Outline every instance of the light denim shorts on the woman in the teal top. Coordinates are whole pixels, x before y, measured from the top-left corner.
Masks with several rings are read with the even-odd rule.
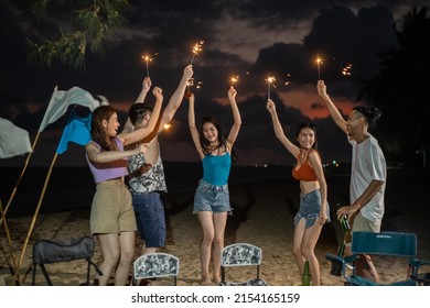
[[[228,185],[216,186],[201,179],[194,195],[193,213],[200,211],[232,213]]]

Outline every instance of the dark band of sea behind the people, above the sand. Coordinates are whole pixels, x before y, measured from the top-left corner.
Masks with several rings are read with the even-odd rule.
[[[233,165],[229,185],[234,186],[276,179],[284,180],[286,185],[295,185],[295,180],[291,178],[291,168],[292,166],[288,165]],[[168,195],[194,190],[202,176],[202,165],[200,162],[165,162],[164,169],[169,189]],[[1,168],[0,198],[3,208],[6,207],[14,186],[17,185],[21,170],[22,167]],[[342,199],[345,202],[347,201],[350,170],[351,166],[348,165],[326,168],[325,175],[329,184],[329,198],[334,195],[333,193],[335,193],[335,195],[342,194]],[[15,197],[8,210],[7,217],[22,217],[34,212],[34,209],[41,199],[41,193],[47,172],[49,167],[30,166],[26,169],[17,189]],[[423,170],[422,168],[388,168],[388,199],[394,187],[391,185],[393,180],[401,183],[405,182],[408,183],[408,185],[411,185],[413,180],[418,180],[430,186],[429,174],[429,170]],[[332,186],[335,182],[340,182],[342,187],[335,188],[338,187],[338,185]],[[402,188],[405,187],[400,185],[400,189]],[[88,167],[54,167],[45,195],[43,196],[41,212],[56,212],[61,210],[89,208],[94,191],[95,184]],[[404,191],[406,194],[406,188]]]

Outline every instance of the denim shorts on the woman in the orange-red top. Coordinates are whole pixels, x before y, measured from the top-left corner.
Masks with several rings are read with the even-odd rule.
[[[300,209],[294,217],[294,226],[297,226],[300,219],[307,220],[305,228],[310,228],[315,222],[315,219],[320,217],[321,210],[321,191],[320,189],[313,190],[308,194],[300,194]],[[330,206],[327,202],[326,212],[330,221]]]

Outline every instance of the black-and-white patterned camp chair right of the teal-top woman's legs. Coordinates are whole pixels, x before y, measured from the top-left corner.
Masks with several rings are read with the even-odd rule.
[[[261,249],[248,243],[236,243],[228,245],[222,251],[222,282],[221,286],[267,286],[267,283],[260,279]],[[241,283],[226,282],[226,267],[234,266],[256,266],[256,278]]]

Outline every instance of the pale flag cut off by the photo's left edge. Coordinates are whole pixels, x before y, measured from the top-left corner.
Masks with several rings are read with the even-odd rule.
[[[0,118],[0,158],[13,157],[33,152],[29,132]]]

